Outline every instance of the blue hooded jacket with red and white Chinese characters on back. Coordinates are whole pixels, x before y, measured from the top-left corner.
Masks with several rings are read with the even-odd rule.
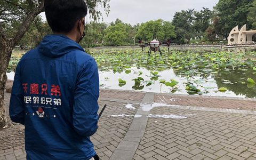
[[[99,74],[75,41],[47,35],[21,58],[10,117],[25,125],[27,159],[90,159],[97,131]]]

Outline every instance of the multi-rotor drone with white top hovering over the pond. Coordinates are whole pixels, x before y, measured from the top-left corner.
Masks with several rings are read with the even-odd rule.
[[[142,51],[144,51],[144,47],[149,46],[149,50],[148,50],[148,57],[151,54],[151,51],[156,52],[158,51],[160,53],[160,55],[162,55],[162,51],[160,50],[160,45],[164,45],[167,46],[168,52],[170,49],[170,44],[172,43],[171,39],[167,39],[165,41],[159,42],[156,39],[154,39],[153,41],[150,41],[149,43],[146,42],[142,42],[141,39],[139,39],[140,47],[142,48]]]

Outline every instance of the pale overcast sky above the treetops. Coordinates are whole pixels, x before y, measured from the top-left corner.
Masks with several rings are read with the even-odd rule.
[[[125,23],[136,25],[137,23],[147,22],[149,20],[163,19],[172,21],[175,12],[181,10],[195,9],[202,10],[207,7],[210,10],[219,0],[110,0],[110,13],[107,15],[102,11],[103,22],[110,23],[117,18]],[[41,13],[45,20],[44,13]],[[89,15],[86,16],[87,22],[90,22]]]

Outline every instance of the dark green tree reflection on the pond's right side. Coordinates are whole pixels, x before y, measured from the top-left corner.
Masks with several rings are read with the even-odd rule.
[[[181,77],[187,77],[185,71],[174,69],[175,75]],[[247,78],[256,80],[256,70],[253,70],[252,67],[229,68],[219,71],[213,71],[211,69],[195,69],[190,71],[190,76],[192,76],[192,79],[199,77],[201,80],[199,82],[195,82],[200,84],[206,83],[209,81],[209,77],[211,77],[214,79],[215,84],[217,84],[218,89],[220,87],[226,87],[228,91],[234,92],[235,95],[244,95],[247,98],[256,98],[255,84],[247,82]]]

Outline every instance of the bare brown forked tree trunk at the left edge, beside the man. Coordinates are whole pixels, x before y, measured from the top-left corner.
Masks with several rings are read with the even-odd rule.
[[[0,129],[7,127],[6,110],[4,106],[4,88],[7,81],[6,71],[11,59],[12,50],[26,33],[34,18],[43,11],[44,0],[41,1],[36,9],[27,15],[25,20],[22,22],[17,34],[11,40],[7,38],[3,29],[0,27]]]

